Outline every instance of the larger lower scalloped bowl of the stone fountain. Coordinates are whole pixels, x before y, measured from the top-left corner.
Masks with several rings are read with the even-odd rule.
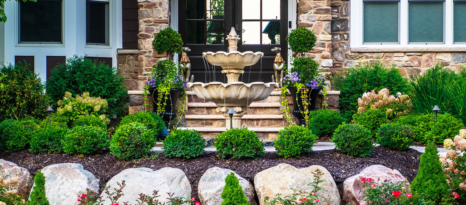
[[[219,107],[247,107],[251,102],[265,100],[274,88],[276,82],[188,82],[188,88],[206,101],[215,102]]]

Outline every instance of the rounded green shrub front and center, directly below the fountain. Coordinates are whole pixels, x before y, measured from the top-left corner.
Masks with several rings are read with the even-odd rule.
[[[233,128],[217,135],[212,144],[222,158],[260,158],[265,154],[264,145],[252,130]]]

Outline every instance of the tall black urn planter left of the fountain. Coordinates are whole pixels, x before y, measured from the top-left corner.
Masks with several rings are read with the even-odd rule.
[[[149,88],[148,91],[152,96],[152,102],[153,102],[152,112],[158,113],[157,112],[158,91],[156,88]],[[182,92],[183,92],[182,89],[170,89],[168,99],[165,100],[164,98],[162,98],[161,103],[162,104],[164,102],[166,103],[165,110],[161,113],[158,113],[158,115],[162,117],[162,120],[164,121],[167,129],[170,129],[168,124],[173,119],[173,117],[176,117],[176,115],[178,114],[178,110],[176,109],[176,102]],[[161,135],[163,134],[161,133]]]

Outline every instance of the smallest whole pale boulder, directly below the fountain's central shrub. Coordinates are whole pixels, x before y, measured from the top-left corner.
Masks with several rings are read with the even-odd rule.
[[[220,205],[223,202],[221,194],[225,187],[225,178],[231,172],[234,171],[219,167],[212,167],[202,175],[199,179],[198,185],[199,201],[202,205]],[[251,205],[257,205],[254,200],[254,186],[238,174],[235,173],[234,175],[238,178],[238,181],[240,181],[240,185],[243,187],[243,192],[244,195],[246,195],[247,201],[249,201]]]

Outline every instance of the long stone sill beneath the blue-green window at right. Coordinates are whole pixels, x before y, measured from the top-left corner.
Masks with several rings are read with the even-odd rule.
[[[466,52],[461,48],[351,48],[351,52]]]

